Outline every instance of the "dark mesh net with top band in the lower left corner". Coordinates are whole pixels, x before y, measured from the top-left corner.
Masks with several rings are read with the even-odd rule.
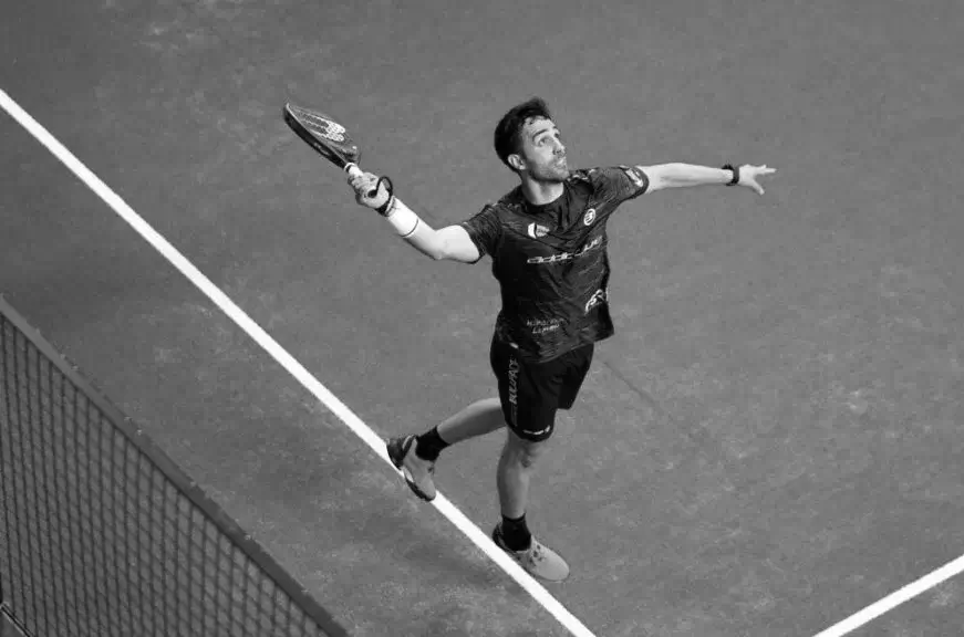
[[[0,614],[28,637],[346,635],[2,297]]]

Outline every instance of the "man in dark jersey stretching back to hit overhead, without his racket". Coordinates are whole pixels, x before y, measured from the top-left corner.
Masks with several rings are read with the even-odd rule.
[[[387,451],[408,487],[432,500],[443,449],[507,427],[497,471],[501,521],[493,540],[530,574],[558,582],[569,566],[532,536],[526,505],[557,410],[572,407],[594,343],[613,334],[607,221],[624,201],[665,188],[718,184],[761,195],[757,178],[774,169],[663,164],[570,170],[562,136],[539,98],[506,113],[495,130],[495,148],[520,185],[463,223],[440,230],[375,175],[349,179],[359,203],[379,210],[422,253],[465,263],[488,254],[501,290],[490,348],[498,398],[474,403],[422,435],[392,438]]]

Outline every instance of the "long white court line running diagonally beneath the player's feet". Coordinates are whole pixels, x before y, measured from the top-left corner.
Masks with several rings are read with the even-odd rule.
[[[301,363],[294,359],[281,345],[255,323],[243,310],[241,310],[227,294],[211,283],[194,264],[190,263],[178,250],[163,236],[152,228],[137,212],[134,211],[121,197],[94,175],[80,159],[66,147],[54,138],[41,126],[27,111],[20,107],[3,90],[0,90],[0,107],[15,119],[28,133],[33,135],[54,157],[66,166],[77,179],[94,191],[114,212],[131,224],[148,243],[177,268],[187,279],[194,283],[215,305],[228,315],[231,321],[243,330],[258,345],[270,354],[291,376],[311,391],[328,409],[334,414],[349,429],[372,448],[393,471],[397,473],[395,466],[388,459],[385,450],[385,441],[365,425],[351,409],[322,385]],[[432,502],[439,513],[445,515],[456,529],[462,531],[471,542],[479,547],[493,562],[498,564],[519,586],[525,588],[532,598],[548,610],[569,633],[576,637],[594,637],[574,615],[559,603],[541,584],[512,561],[505,552],[493,543],[491,539],[483,533],[465,514],[452,504],[442,493],[438,493]]]

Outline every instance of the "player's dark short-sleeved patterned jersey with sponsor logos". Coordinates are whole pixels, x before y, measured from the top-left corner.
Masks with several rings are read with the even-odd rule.
[[[493,259],[502,300],[497,340],[543,362],[612,336],[605,224],[647,187],[635,167],[573,170],[551,203],[529,203],[519,186],[462,223]]]

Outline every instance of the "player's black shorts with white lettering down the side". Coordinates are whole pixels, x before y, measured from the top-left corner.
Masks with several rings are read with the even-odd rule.
[[[533,442],[549,438],[556,410],[569,409],[576,401],[593,351],[590,343],[546,363],[527,363],[519,358],[518,349],[493,338],[489,362],[509,429]]]

